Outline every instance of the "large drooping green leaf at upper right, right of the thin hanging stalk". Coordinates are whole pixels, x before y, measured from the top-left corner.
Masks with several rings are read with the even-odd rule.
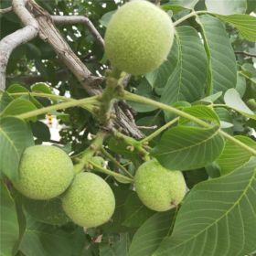
[[[208,52],[208,94],[225,92],[235,87],[237,80],[235,54],[226,29],[213,16],[200,16],[197,22],[202,28]]]

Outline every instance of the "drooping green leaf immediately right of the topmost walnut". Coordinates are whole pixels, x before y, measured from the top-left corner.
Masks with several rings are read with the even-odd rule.
[[[207,55],[197,30],[193,27],[177,27],[178,64],[166,82],[161,101],[197,101],[202,98],[207,79]]]

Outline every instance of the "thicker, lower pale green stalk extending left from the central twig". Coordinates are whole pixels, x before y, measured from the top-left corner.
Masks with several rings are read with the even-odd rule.
[[[96,103],[98,101],[98,98],[99,98],[99,96],[93,96],[93,97],[81,99],[81,100],[61,102],[59,104],[51,105],[51,106],[41,108],[41,109],[38,109],[35,111],[21,113],[21,114],[16,115],[16,117],[21,118],[21,119],[27,119],[27,118],[37,116],[37,115],[40,115],[43,113],[67,109],[70,107],[78,107],[78,106],[83,106],[83,108],[91,110],[91,107],[93,106],[94,103]],[[86,106],[86,104],[89,104],[90,106],[89,105]]]

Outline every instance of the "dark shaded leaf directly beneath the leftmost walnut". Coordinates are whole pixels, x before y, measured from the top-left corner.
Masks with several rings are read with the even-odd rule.
[[[62,209],[59,198],[46,201],[23,197],[22,201],[29,215],[39,222],[50,225],[64,225],[70,221]]]

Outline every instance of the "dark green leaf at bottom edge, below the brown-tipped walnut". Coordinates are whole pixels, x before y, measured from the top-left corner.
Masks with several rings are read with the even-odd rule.
[[[129,256],[151,256],[160,242],[168,235],[175,211],[155,213],[136,231],[129,248]]]

